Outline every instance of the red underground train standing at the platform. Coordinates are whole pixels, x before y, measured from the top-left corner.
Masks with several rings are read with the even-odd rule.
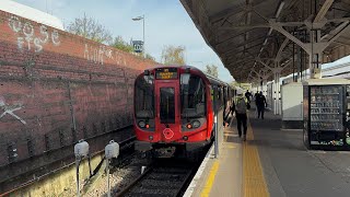
[[[194,158],[213,141],[214,117],[225,124],[235,90],[196,67],[163,66],[139,74],[133,93],[135,149]]]

